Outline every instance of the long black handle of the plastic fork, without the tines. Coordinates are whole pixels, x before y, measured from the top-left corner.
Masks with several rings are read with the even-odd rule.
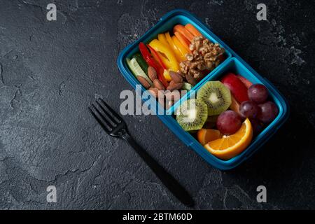
[[[125,139],[132,148],[138,153],[138,155],[146,162],[146,165],[152,169],[152,171],[155,173],[156,176],[164,183],[165,186],[169,189],[170,192],[173,193],[173,195],[181,201],[183,204],[185,204],[188,207],[193,207],[194,201],[193,198],[189,195],[187,190],[181,186],[181,184],[174,179],[174,177],[169,174],[161,165],[156,162],[151,155],[149,155],[144,148],[139,146],[137,144],[137,141],[134,141],[134,139],[125,132],[122,136],[123,139]]]

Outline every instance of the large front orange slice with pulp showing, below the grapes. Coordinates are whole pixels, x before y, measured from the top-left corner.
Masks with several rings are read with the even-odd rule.
[[[221,139],[210,141],[204,145],[204,148],[216,155],[217,158],[230,160],[230,158],[239,155],[244,149],[251,144],[253,138],[253,129],[251,122],[246,118],[241,128],[231,135],[223,135]]]

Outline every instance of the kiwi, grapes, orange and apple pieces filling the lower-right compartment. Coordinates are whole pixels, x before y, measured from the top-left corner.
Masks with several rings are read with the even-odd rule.
[[[229,160],[244,151],[278,115],[276,104],[268,98],[264,85],[226,73],[220,81],[204,83],[196,99],[183,102],[176,120],[210,153]]]

